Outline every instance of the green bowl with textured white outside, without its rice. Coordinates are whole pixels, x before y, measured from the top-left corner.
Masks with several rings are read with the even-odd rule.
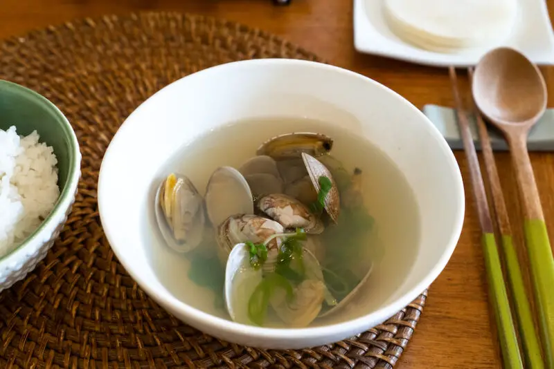
[[[17,134],[37,131],[57,158],[60,198],[44,222],[12,252],[0,258],[0,291],[11,287],[35,268],[64,227],[80,178],[81,153],[71,124],[54,104],[24,86],[0,79],[0,129]]]

